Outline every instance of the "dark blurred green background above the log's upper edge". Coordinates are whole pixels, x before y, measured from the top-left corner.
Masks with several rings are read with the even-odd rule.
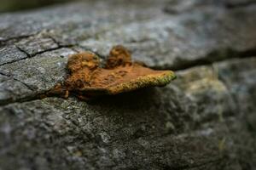
[[[74,0],[0,0],[0,13],[40,8],[55,3],[67,3]]]

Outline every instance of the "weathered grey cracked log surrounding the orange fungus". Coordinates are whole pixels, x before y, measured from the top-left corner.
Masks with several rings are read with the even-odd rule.
[[[0,15],[0,169],[255,169],[255,11],[84,0]],[[113,67],[117,44],[177,79],[93,103],[38,98],[65,81],[68,56]]]

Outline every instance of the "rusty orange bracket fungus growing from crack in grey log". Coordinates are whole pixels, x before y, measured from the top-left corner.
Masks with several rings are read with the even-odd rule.
[[[114,46],[106,65],[100,66],[96,54],[73,54],[67,62],[69,75],[58,83],[50,94],[67,98],[70,93],[79,99],[91,99],[104,94],[120,94],[138,88],[165,86],[175,75],[172,71],[154,71],[145,65],[132,62],[130,52],[123,46]]]

